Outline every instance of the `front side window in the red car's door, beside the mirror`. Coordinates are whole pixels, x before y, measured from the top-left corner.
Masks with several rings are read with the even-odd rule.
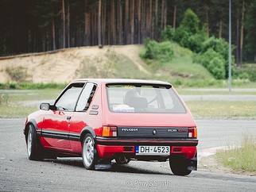
[[[61,95],[55,106],[57,110],[68,110],[74,111],[76,102],[83,89],[84,83],[72,84],[65,90],[64,94]]]

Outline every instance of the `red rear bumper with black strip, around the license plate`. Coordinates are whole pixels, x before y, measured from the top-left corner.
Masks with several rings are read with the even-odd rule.
[[[198,140],[117,140],[96,137],[97,151],[100,158],[114,158],[115,155],[124,154],[136,158],[135,146],[154,145],[170,146],[170,156],[184,155],[186,159],[196,156]]]

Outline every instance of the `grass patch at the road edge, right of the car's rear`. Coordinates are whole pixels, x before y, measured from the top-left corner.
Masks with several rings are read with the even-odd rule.
[[[217,152],[216,156],[223,165],[235,171],[256,171],[256,136],[243,134],[240,147],[230,147]]]

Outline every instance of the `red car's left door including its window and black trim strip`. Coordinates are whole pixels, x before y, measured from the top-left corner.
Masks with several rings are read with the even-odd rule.
[[[57,98],[54,109],[45,115],[42,136],[47,144],[46,148],[71,151],[69,126],[83,85],[84,83],[74,83],[68,86]]]

